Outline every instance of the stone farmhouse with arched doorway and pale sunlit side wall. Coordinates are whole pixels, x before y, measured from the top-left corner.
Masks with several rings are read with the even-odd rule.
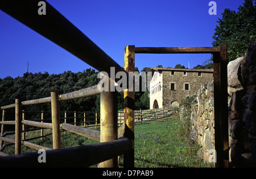
[[[150,109],[179,107],[201,85],[213,80],[213,69],[151,68]]]

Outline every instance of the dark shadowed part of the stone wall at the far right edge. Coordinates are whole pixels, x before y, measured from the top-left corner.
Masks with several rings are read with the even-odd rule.
[[[238,67],[238,86],[229,105],[232,166],[256,167],[256,39]]]

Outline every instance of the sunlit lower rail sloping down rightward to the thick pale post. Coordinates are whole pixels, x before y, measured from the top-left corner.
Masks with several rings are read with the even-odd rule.
[[[89,128],[84,128],[84,127],[80,127],[80,126],[74,126],[74,125],[67,124],[67,123],[62,123],[60,125],[60,128],[63,130],[70,131],[75,134],[81,135],[81,136],[85,136],[86,138],[89,138],[92,140],[100,141],[100,131],[91,130]]]

